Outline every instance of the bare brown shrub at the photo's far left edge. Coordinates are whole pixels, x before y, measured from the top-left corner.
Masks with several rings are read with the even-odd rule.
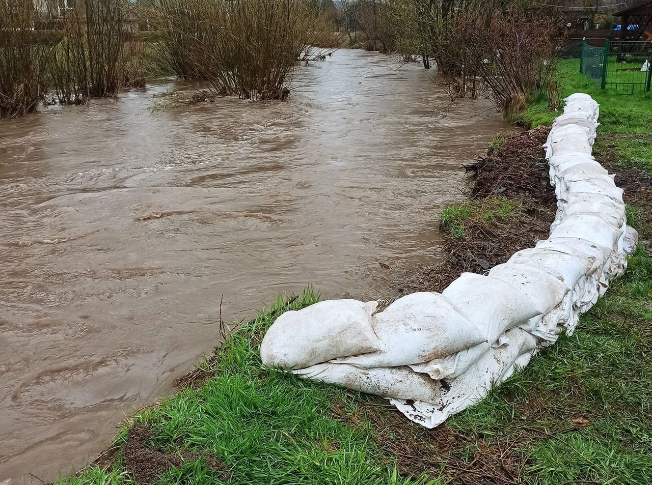
[[[0,117],[37,109],[48,89],[48,63],[55,40],[33,31],[32,0],[0,2]]]

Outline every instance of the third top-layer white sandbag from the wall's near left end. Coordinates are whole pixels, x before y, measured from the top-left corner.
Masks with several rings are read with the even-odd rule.
[[[442,294],[482,329],[490,344],[508,328],[544,312],[511,284],[476,273],[462,273]]]

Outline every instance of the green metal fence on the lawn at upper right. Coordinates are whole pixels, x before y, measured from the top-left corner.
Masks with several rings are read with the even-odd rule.
[[[600,89],[616,94],[649,91],[652,81],[652,42],[610,42],[606,39],[604,47],[595,47],[582,40],[580,72],[593,79]]]

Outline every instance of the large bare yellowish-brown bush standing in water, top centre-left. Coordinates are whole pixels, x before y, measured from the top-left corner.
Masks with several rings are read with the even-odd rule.
[[[151,18],[178,76],[245,99],[286,98],[297,59],[324,37],[308,0],[160,0]]]

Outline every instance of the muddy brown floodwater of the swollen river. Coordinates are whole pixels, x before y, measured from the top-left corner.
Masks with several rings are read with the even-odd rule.
[[[149,112],[170,81],[0,122],[0,481],[95,458],[215,346],[222,295],[231,321],[308,283],[378,298],[436,257],[460,165],[507,125],[432,116],[430,72],[376,53],[297,79],[285,103]]]

